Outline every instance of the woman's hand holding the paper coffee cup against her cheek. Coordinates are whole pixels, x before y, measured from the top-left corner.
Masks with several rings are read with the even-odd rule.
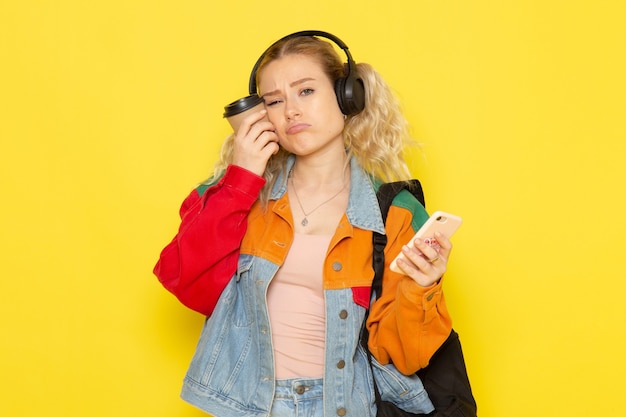
[[[278,152],[278,136],[274,125],[261,110],[247,116],[235,135],[233,164],[263,176],[267,161]]]

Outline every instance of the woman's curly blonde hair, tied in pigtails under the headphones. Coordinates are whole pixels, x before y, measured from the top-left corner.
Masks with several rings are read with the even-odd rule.
[[[285,55],[297,54],[315,57],[333,84],[346,74],[347,67],[329,42],[313,36],[302,36],[272,46],[264,54],[257,77],[269,62]],[[409,146],[415,145],[415,142],[409,135],[408,123],[402,114],[399,100],[371,65],[358,63],[356,73],[365,87],[365,109],[346,118],[343,130],[346,153],[349,157],[354,155],[361,167],[376,180],[408,180],[411,173],[405,161],[405,151]],[[234,139],[234,134],[225,139],[212,178],[220,178],[232,162]],[[289,152],[281,148],[269,159],[263,174],[267,183],[259,197],[262,202],[267,202],[279,175],[286,174],[286,160],[289,155]]]

